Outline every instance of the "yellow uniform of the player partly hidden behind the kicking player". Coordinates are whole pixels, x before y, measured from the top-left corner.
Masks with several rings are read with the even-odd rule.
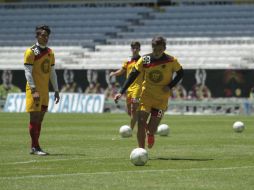
[[[126,78],[128,78],[129,74],[131,73],[132,69],[134,68],[139,58],[140,56],[132,57],[130,60],[124,62],[122,68],[126,70]],[[126,93],[127,104],[139,102],[142,82],[143,82],[143,75],[140,74],[135,79],[135,81],[129,86]]]

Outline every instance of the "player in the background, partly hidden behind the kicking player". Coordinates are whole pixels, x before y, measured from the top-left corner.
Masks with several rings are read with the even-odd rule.
[[[133,41],[131,43],[131,52],[132,56],[129,60],[125,61],[122,65],[122,68],[111,72],[109,74],[110,77],[112,76],[120,76],[126,73],[126,78],[131,73],[133,67],[135,66],[136,62],[139,60],[140,55],[140,42]],[[137,122],[137,107],[139,105],[139,98],[140,98],[140,92],[141,92],[141,85],[143,82],[142,75],[139,75],[135,81],[129,86],[126,94],[126,105],[127,105],[127,111],[128,115],[131,117],[130,127],[131,129],[134,129],[135,124]]]

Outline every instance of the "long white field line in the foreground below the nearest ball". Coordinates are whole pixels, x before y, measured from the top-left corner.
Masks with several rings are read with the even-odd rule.
[[[219,171],[219,170],[237,170],[237,169],[251,169],[254,166],[235,166],[225,168],[189,168],[189,169],[166,169],[166,170],[127,170],[127,171],[109,171],[109,172],[84,172],[84,173],[60,173],[60,174],[46,174],[46,175],[28,175],[28,176],[14,176],[14,177],[0,177],[0,180],[18,180],[31,178],[53,178],[53,177],[70,177],[70,176],[91,176],[91,175],[110,175],[110,174],[127,174],[127,173],[164,173],[164,172],[186,172],[186,171]]]

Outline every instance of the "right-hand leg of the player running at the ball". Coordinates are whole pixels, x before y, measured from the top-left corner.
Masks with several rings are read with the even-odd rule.
[[[148,148],[152,148],[154,145],[154,134],[157,131],[157,127],[160,124],[160,121],[163,117],[163,111],[162,110],[158,110],[158,109],[154,109],[152,108],[151,110],[151,117],[148,121],[147,124],[147,144],[148,144]]]

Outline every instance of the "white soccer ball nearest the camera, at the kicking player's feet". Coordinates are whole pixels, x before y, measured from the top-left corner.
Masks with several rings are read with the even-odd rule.
[[[135,166],[144,166],[148,161],[148,153],[146,149],[135,148],[131,151],[130,160]]]

